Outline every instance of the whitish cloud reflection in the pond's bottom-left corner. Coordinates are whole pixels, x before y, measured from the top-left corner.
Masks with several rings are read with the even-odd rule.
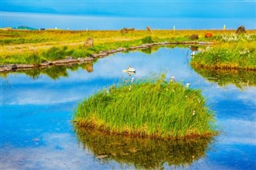
[[[1,148],[2,169],[94,169],[120,168],[118,164],[98,164],[94,155],[78,147],[70,133],[44,133],[39,147],[8,145]],[[38,143],[35,140],[34,143]]]

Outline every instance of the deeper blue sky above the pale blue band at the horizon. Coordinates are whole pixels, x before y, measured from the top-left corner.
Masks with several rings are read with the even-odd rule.
[[[256,18],[255,1],[1,0],[8,12],[138,18]]]

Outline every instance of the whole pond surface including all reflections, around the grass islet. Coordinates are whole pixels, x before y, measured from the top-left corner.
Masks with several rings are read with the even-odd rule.
[[[2,169],[255,169],[256,74],[190,67],[189,48],[116,53],[94,63],[1,75]],[[122,73],[131,65],[136,73]],[[166,73],[202,89],[221,130],[213,139],[149,140],[76,129],[78,102],[134,77]]]

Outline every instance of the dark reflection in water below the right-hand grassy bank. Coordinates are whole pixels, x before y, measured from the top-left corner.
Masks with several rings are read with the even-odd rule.
[[[219,86],[235,85],[239,89],[256,85],[256,72],[247,70],[196,69],[197,73],[207,81],[218,83]]]

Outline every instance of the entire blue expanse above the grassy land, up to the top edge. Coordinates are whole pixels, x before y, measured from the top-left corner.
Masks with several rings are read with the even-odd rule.
[[[256,29],[255,0],[1,0],[1,11],[0,27]]]

